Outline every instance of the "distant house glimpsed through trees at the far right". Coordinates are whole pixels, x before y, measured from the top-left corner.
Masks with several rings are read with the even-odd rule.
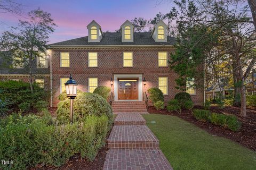
[[[206,99],[216,99],[220,97],[220,91],[222,92],[223,97],[225,97],[231,95],[233,90],[233,88],[225,86],[224,84],[219,86],[219,84],[216,83],[214,86],[211,86],[205,90],[205,96]]]

